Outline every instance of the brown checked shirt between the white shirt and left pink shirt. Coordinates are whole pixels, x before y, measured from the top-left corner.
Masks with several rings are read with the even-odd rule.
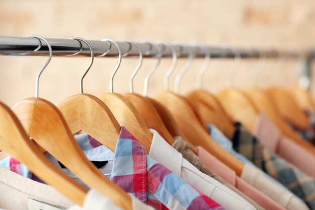
[[[173,144],[173,148],[175,148],[178,152],[180,152],[183,155],[183,158],[185,158],[187,161],[189,161],[192,165],[194,165],[199,171],[201,171],[204,174],[207,174],[208,176],[214,178],[215,180],[219,181],[220,183],[227,186],[229,189],[234,191],[235,193],[239,194],[241,197],[243,197],[245,200],[247,200],[249,203],[251,203],[255,209],[263,210],[264,208],[258,205],[254,200],[246,196],[243,192],[232,186],[230,183],[222,179],[219,175],[211,171],[208,167],[206,167],[204,164],[201,163],[200,159],[197,155],[194,154],[192,150],[189,149],[188,144],[184,141],[184,139],[181,136],[175,137],[175,142]]]

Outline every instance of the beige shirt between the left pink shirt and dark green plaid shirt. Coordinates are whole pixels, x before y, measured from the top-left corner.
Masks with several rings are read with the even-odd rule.
[[[303,202],[295,198],[292,193],[274,184],[259,170],[248,164],[245,164],[241,178],[288,210],[308,209],[308,207]]]

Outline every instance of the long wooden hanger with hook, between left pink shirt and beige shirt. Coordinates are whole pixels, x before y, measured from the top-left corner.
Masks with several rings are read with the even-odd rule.
[[[175,90],[177,92],[179,91],[181,78],[187,72],[193,60],[191,50],[183,44],[178,45],[186,49],[188,60],[184,68],[176,77]],[[167,74],[166,81],[169,80],[171,73]],[[156,94],[153,98],[168,108],[174,116],[181,132],[184,133],[185,137],[187,137],[192,144],[195,146],[202,146],[229,168],[233,169],[238,176],[241,176],[244,164],[215,143],[184,97],[169,91],[164,91]]]

